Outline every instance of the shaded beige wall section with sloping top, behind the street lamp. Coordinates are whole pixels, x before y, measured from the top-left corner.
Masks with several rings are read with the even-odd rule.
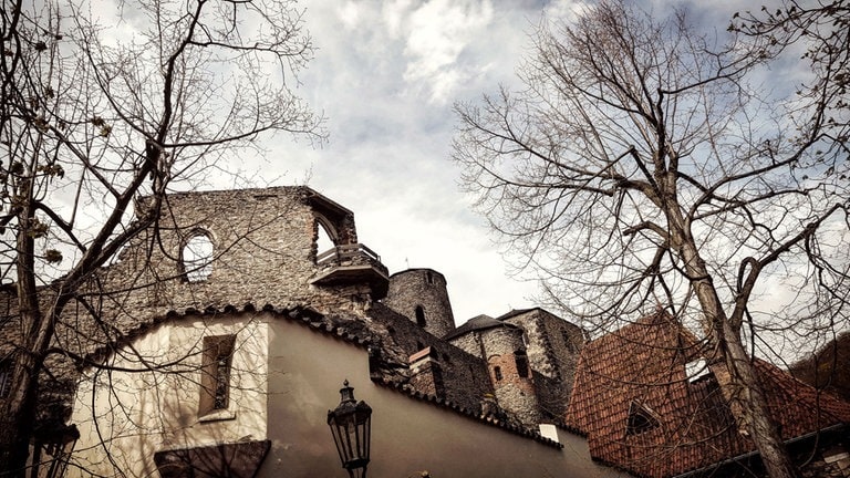
[[[260,477],[344,477],[326,426],[344,380],[373,408],[370,476],[620,476],[590,459],[581,437],[560,432],[552,448],[456,412],[415,401],[369,380],[365,350],[291,322],[270,326],[269,438]]]

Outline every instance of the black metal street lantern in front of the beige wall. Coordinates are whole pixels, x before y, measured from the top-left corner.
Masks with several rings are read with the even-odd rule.
[[[354,388],[349,386],[349,381],[343,382],[340,396],[340,405],[328,411],[328,426],[349,477],[365,478],[372,438],[372,407],[354,399]]]

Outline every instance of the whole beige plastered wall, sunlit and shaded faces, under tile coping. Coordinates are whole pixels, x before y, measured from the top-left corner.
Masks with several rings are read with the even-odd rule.
[[[199,422],[203,336],[234,331],[235,416]],[[86,373],[72,418],[82,434],[72,476],[85,475],[75,466],[114,475],[108,453],[128,476],[155,477],[156,451],[249,437],[272,443],[259,477],[342,478],[326,414],[339,404],[346,378],[356,398],[374,409],[371,477],[404,478],[423,470],[437,478],[618,476],[590,460],[580,437],[560,432],[564,448],[553,448],[375,385],[365,349],[289,319],[258,313],[182,320],[153,330],[133,347],[151,363],[178,360],[172,371],[179,366],[180,373]],[[128,350],[111,363],[138,367]]]

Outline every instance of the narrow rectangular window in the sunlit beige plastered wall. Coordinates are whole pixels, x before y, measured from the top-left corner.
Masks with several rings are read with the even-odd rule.
[[[227,409],[230,405],[230,365],[235,343],[236,335],[204,337],[199,415]]]

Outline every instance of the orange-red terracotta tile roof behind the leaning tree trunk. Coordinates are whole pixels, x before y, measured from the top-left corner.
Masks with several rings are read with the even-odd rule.
[[[587,436],[594,459],[638,476],[672,477],[753,451],[714,376],[688,381],[685,364],[698,357],[694,337],[661,314],[588,343],[567,426]],[[850,404],[755,364],[785,439],[850,423]]]

